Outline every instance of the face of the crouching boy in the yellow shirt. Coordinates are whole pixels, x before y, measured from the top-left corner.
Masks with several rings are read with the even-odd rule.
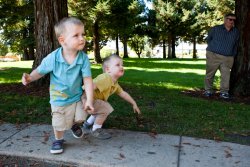
[[[124,74],[123,61],[119,58],[112,58],[106,67],[106,72],[110,75],[119,78]]]

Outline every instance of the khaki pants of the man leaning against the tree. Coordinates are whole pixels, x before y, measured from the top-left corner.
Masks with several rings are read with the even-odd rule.
[[[231,68],[234,63],[233,56],[223,56],[210,51],[206,52],[205,90],[213,92],[213,82],[216,71],[221,74],[220,92],[228,93]]]

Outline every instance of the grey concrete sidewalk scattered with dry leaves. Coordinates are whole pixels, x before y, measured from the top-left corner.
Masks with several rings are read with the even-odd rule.
[[[64,153],[49,153],[51,125],[0,125],[0,158],[14,156],[88,167],[250,167],[250,146],[212,140],[108,130],[109,140],[65,134]],[[0,166],[7,166],[0,159]],[[45,165],[46,166],[46,165]]]

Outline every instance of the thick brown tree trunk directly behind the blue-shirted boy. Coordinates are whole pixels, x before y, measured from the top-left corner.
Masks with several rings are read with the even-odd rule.
[[[58,48],[54,25],[63,17],[68,16],[67,0],[34,0],[36,58],[35,69],[44,57]],[[43,77],[36,82],[38,85],[48,84],[49,78]]]

